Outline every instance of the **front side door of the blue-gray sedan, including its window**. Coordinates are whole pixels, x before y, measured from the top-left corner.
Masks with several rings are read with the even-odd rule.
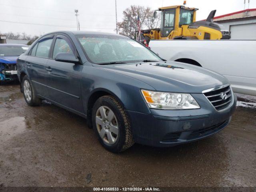
[[[49,99],[78,112],[84,112],[81,100],[81,64],[55,61],[58,53],[73,53],[76,48],[68,36],[58,34],[54,40],[51,58],[47,63]]]

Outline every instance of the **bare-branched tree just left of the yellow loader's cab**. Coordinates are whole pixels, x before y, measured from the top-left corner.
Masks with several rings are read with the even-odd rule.
[[[123,16],[123,21],[118,22],[118,31],[120,34],[132,38],[135,38],[138,16],[140,18],[141,29],[155,26],[156,23],[156,20],[153,18],[153,11],[149,7],[132,5],[123,11]]]

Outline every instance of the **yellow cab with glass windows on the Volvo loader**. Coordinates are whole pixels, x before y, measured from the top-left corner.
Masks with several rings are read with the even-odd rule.
[[[169,6],[158,9],[162,12],[161,15],[161,32],[162,39],[170,39],[173,36],[182,34],[183,25],[189,25],[196,21],[195,8],[185,6]]]

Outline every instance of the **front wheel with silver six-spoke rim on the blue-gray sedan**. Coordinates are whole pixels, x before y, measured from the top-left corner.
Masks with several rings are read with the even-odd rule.
[[[96,100],[92,109],[92,124],[100,144],[111,152],[124,151],[134,144],[129,118],[112,96]]]

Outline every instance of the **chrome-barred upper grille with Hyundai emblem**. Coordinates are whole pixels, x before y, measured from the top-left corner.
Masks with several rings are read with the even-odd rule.
[[[205,90],[203,94],[218,111],[228,108],[233,101],[233,94],[229,84]]]

